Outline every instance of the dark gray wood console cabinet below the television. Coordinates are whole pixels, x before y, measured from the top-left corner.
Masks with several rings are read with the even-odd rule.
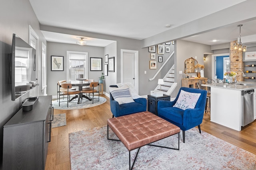
[[[20,109],[4,125],[3,170],[44,170],[52,119],[52,96],[39,96],[32,110]]]

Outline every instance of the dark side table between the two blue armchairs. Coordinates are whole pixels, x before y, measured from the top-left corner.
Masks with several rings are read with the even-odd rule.
[[[164,94],[164,96],[159,96],[159,97],[148,95],[148,111],[157,115],[157,102],[160,100],[170,101],[171,96],[166,94]]]

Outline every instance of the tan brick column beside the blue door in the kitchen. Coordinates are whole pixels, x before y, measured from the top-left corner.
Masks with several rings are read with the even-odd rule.
[[[230,42],[230,71],[244,71],[244,64],[243,64],[243,54],[242,51],[234,50],[233,44],[236,41]],[[236,75],[237,81],[243,81],[243,75],[241,72],[238,72]]]

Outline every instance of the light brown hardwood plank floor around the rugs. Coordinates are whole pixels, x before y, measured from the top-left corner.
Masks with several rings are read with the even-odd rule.
[[[107,102],[87,109],[54,109],[54,114],[66,113],[67,125],[52,129],[51,142],[48,146],[46,170],[70,170],[69,133],[106,125],[107,119],[112,117],[112,113],[110,111],[109,98],[105,95],[103,97],[107,99]],[[205,113],[201,129],[256,154],[256,121],[243,127],[242,131],[235,131],[210,122],[210,113]]]

